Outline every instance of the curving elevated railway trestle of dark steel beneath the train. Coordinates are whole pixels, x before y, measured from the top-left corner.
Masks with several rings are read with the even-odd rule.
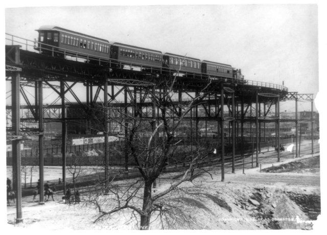
[[[280,143],[280,123],[294,122],[296,127],[295,143],[296,156],[298,154],[298,124],[297,102],[308,101],[313,107],[312,94],[299,94],[288,91],[287,87],[250,80],[239,80],[226,77],[214,77],[207,74],[179,73],[169,70],[165,73],[161,67],[153,66],[146,72],[133,69],[134,64],[129,68],[111,66],[112,61],[101,63],[104,58],[99,57],[92,63],[88,55],[78,54],[74,51],[65,51],[71,55],[70,59],[40,54],[37,44],[24,38],[6,34],[6,80],[11,82],[11,105],[7,111],[11,115],[11,127],[7,127],[7,140],[12,143],[13,162],[13,188],[17,193],[17,221],[22,220],[21,215],[21,189],[20,189],[20,145],[19,142],[25,134],[38,135],[39,139],[39,168],[40,168],[40,192],[43,192],[43,141],[44,122],[61,122],[61,153],[63,168],[63,190],[65,191],[65,166],[67,146],[67,125],[70,122],[80,122],[85,125],[87,132],[92,128],[92,120],[95,118],[95,107],[103,108],[105,116],[112,108],[130,114],[134,118],[143,118],[152,125],[162,115],[158,111],[155,97],[167,92],[168,86],[173,86],[175,99],[166,101],[168,107],[175,109],[167,115],[171,120],[181,113],[181,110],[190,101],[196,99],[188,115],[186,122],[190,124],[192,140],[196,142],[199,138],[199,122],[205,122],[205,130],[208,129],[207,122],[215,122],[217,139],[220,143],[221,156],[221,180],[224,180],[224,157],[225,137],[231,142],[231,170],[235,172],[235,142],[236,138],[244,138],[244,125],[250,125],[251,135],[255,138],[255,167],[259,166],[260,140],[262,139],[261,129],[265,123],[275,123],[275,146]],[[72,56],[74,55],[74,56]],[[81,59],[82,58],[82,59]],[[120,63],[120,61],[118,61]],[[105,64],[105,65],[104,65]],[[142,66],[139,65],[139,66]],[[75,88],[83,85],[81,88]],[[27,87],[34,90],[33,94],[27,92]],[[44,89],[51,89],[57,96],[51,104],[43,104]],[[197,99],[199,94],[201,99]],[[82,95],[81,95],[82,94]],[[8,97],[8,98],[9,98]],[[21,105],[20,97],[24,99]],[[32,97],[32,98],[31,98]],[[279,115],[279,103],[282,101],[295,101],[295,120],[281,120]],[[58,104],[59,103],[59,104]],[[67,110],[75,107],[80,110],[78,116],[70,115]],[[20,116],[20,109],[28,109],[28,116]],[[52,110],[52,114],[44,117],[44,113]],[[202,110],[201,112],[199,110]],[[274,109],[274,115],[270,115]],[[51,113],[51,112],[50,112]],[[21,122],[35,122],[37,128],[26,128]],[[301,122],[311,122],[305,120]],[[228,131],[226,131],[228,129]],[[104,153],[105,153],[105,178],[108,177],[108,166],[110,157],[108,154],[108,136],[110,129],[104,126]],[[128,134],[125,127],[123,132]],[[277,148],[277,161],[280,159],[279,148]],[[312,133],[313,153],[313,133]],[[127,155],[127,153],[126,153]],[[126,161],[127,162],[127,161]],[[128,166],[126,163],[126,170]],[[107,183],[108,180],[106,180]],[[44,203],[43,195],[40,194],[40,203]]]

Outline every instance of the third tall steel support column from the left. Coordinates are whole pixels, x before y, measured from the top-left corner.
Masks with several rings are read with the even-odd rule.
[[[60,81],[61,97],[61,154],[62,154],[62,183],[63,194],[66,192],[66,107],[65,107],[65,84]]]

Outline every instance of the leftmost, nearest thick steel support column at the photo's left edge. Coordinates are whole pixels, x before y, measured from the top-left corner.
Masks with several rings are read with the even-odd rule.
[[[16,54],[19,54],[17,50]],[[18,57],[19,60],[19,57]],[[20,116],[19,116],[19,86],[20,75],[15,72],[11,77],[11,104],[12,104],[12,130],[14,135],[20,135]],[[16,223],[22,222],[21,213],[21,185],[20,185],[20,144],[19,139],[12,140],[12,172],[13,172],[13,191],[16,194]]]

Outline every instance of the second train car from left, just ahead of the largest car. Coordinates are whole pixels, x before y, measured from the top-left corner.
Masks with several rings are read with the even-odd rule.
[[[117,60],[118,64],[132,64],[134,66],[162,66],[162,53],[160,51],[139,48],[138,46],[123,43],[112,43],[110,46],[110,59]],[[115,62],[111,63],[113,66]]]

